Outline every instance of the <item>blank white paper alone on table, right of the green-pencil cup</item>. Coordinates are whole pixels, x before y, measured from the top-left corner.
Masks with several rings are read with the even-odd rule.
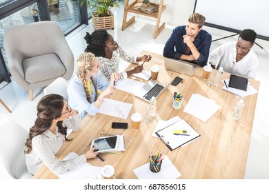
[[[183,112],[192,114],[197,119],[206,122],[219,108],[220,106],[215,101],[208,99],[206,96],[192,94]]]

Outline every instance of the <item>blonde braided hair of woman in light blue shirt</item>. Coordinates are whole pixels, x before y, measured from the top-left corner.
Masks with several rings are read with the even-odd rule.
[[[77,59],[77,76],[79,77],[79,79],[81,79],[83,88],[85,90],[86,98],[89,103],[92,103],[92,101],[90,100],[90,92],[87,87],[88,80],[86,80],[85,76],[87,74],[87,71],[91,71],[92,68],[94,67],[93,65],[94,59],[95,59],[95,56],[91,52],[84,52]],[[97,85],[94,83],[92,77],[90,77],[90,80],[92,81],[95,92],[97,93]],[[97,99],[97,94],[95,96],[94,101],[96,101],[96,99]]]

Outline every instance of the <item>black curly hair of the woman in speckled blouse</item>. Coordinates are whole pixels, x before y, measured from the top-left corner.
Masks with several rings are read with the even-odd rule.
[[[95,30],[92,34],[86,32],[84,39],[88,45],[85,52],[92,52],[96,57],[105,57],[105,47],[109,36],[106,30]]]

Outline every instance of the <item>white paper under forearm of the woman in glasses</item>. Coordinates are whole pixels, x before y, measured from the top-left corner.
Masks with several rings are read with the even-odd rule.
[[[74,152],[70,152],[63,160],[72,159],[78,156]],[[82,163],[74,170],[59,174],[59,179],[96,179],[101,174],[102,167],[90,165],[90,163]]]

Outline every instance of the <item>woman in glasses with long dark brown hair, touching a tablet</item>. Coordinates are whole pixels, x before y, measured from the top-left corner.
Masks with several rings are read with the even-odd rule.
[[[63,141],[71,141],[66,138],[66,130],[79,130],[81,118],[77,110],[70,108],[63,96],[48,94],[43,96],[37,104],[37,119],[30,128],[29,138],[26,140],[26,165],[31,174],[39,170],[45,164],[54,174],[61,174],[73,170],[87,159],[97,156],[94,148],[85,154],[66,161],[57,159]]]

